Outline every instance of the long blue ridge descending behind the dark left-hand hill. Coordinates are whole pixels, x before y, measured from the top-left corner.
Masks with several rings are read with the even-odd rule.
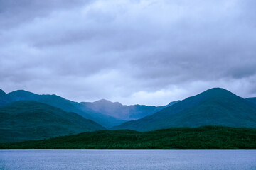
[[[90,108],[85,107],[81,103],[69,101],[65,98],[56,95],[38,95],[33,94],[29,91],[18,90],[6,94],[4,100],[4,104],[11,103],[14,101],[38,101],[40,103],[46,103],[50,106],[60,108],[66,112],[78,113],[79,115],[82,115],[82,117],[93,120],[107,128],[124,123],[124,120],[119,120],[112,116],[103,115],[102,113],[92,111]],[[4,104],[2,104],[2,106],[4,106]]]

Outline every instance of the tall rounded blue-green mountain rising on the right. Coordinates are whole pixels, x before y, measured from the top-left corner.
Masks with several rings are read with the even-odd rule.
[[[256,107],[230,91],[214,88],[112,129],[148,131],[203,125],[256,128]]]

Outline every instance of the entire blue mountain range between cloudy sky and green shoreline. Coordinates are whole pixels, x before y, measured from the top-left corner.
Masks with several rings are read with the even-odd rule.
[[[206,125],[256,128],[256,98],[213,88],[166,106],[125,106],[104,99],[78,103],[23,90],[6,94],[0,89],[0,142],[106,129],[144,132]]]

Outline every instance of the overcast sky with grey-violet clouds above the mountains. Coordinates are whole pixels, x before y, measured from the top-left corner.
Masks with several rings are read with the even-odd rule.
[[[256,96],[255,0],[0,0],[0,89],[161,106]]]

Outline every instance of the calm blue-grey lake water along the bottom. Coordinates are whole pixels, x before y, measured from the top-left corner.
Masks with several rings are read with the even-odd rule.
[[[0,169],[256,170],[256,150],[0,150]]]

